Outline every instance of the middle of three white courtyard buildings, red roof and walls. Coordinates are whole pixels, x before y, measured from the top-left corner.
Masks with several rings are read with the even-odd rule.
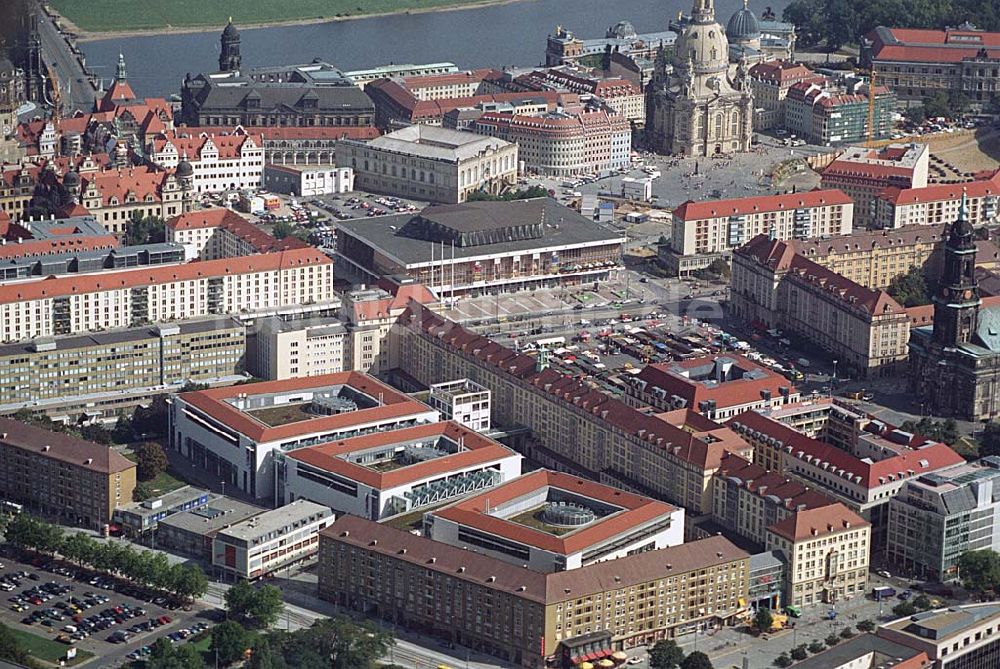
[[[328,441],[276,461],[278,501],[308,499],[382,520],[496,486],[521,456],[452,421]]]

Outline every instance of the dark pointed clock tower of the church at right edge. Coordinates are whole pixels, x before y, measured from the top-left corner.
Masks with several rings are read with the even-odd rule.
[[[944,246],[944,271],[934,295],[934,342],[941,346],[968,344],[979,319],[976,282],[976,240],[969,223],[966,195]]]

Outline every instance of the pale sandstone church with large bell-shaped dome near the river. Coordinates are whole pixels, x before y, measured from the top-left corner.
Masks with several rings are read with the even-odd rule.
[[[662,50],[657,54],[647,89],[649,148],[681,156],[750,150],[749,63],[742,58],[731,74],[729,53],[726,32],[715,20],[715,0],[694,0],[691,18],[675,43],[673,63],[667,63]]]

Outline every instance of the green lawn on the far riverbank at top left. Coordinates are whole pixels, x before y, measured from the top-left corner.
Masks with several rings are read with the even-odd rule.
[[[488,0],[49,0],[81,30],[221,27],[475,5]]]

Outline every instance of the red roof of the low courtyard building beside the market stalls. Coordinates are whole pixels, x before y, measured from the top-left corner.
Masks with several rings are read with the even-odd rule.
[[[722,359],[732,360],[735,367],[744,371],[757,371],[764,376],[757,379],[742,378],[708,385],[702,381],[686,378],[677,371],[715,365]],[[788,388],[793,393],[797,392],[784,376],[772,372],[742,355],[728,353],[720,356],[646,365],[635,376],[635,380],[645,381],[647,392],[650,388],[662,388],[668,397],[677,395],[684,398],[687,400],[687,406],[695,411],[698,410],[701,402],[706,400],[714,400],[716,406],[723,409],[760,401],[764,391],[769,392],[773,398],[781,397],[781,388]]]

